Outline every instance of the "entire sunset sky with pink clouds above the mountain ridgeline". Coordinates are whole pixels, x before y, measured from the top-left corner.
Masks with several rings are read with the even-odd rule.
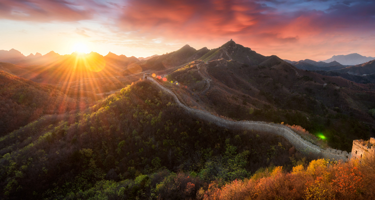
[[[0,49],[146,57],[233,39],[263,55],[375,57],[375,0],[0,0]]]

